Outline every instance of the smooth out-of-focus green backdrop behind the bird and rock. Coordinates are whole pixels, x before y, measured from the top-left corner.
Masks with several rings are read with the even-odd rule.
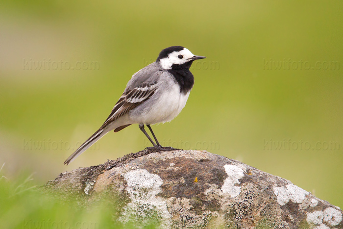
[[[42,185],[149,146],[134,125],[63,165],[130,77],[181,45],[207,58],[192,67],[181,114],[154,126],[160,142],[240,160],[343,207],[342,9],[339,0],[2,1],[1,173],[35,172]]]

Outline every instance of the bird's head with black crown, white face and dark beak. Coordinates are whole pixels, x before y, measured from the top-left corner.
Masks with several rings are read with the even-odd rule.
[[[172,46],[160,52],[156,62],[158,62],[163,69],[189,69],[193,61],[206,58],[205,56],[196,56],[188,49],[182,46]]]

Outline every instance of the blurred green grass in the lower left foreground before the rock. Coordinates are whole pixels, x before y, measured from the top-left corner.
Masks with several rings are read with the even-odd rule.
[[[131,229],[133,222],[121,224],[113,202],[80,206],[76,199],[58,200],[44,193],[35,181],[23,174],[16,180],[0,179],[0,224],[3,229]],[[153,220],[153,219],[151,219]],[[144,229],[154,229],[158,222],[147,222]]]

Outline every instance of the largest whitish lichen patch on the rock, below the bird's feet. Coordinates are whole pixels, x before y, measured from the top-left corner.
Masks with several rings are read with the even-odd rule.
[[[150,174],[145,169],[136,169],[123,174],[127,182],[126,191],[131,203],[124,207],[120,220],[125,222],[144,222],[158,220],[162,228],[169,227],[168,219],[171,214],[167,210],[167,203],[156,195],[160,193],[163,180],[156,174]]]

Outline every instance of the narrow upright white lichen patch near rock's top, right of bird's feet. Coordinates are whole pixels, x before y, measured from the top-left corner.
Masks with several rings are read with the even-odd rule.
[[[241,183],[238,179],[244,177],[244,171],[236,165],[224,165],[224,169],[228,177],[224,180],[221,191],[228,193],[231,198],[237,197],[241,193],[241,187],[235,184]]]

